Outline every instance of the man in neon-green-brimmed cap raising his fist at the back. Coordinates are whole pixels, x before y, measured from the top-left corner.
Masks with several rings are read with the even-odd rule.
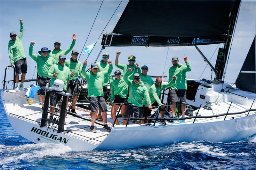
[[[139,74],[141,73],[140,68],[139,68],[139,67],[138,67],[138,68],[135,67],[135,61],[136,61],[135,59],[136,59],[136,57],[135,57],[134,55],[128,56],[128,62],[129,62],[129,64],[120,64],[120,63],[118,62],[118,57],[119,57],[120,54],[121,54],[121,51],[117,51],[117,52],[116,52],[116,61],[115,61],[115,65],[116,65],[116,67],[117,67],[118,69],[123,70],[123,75],[125,75],[125,73],[126,73],[126,71],[127,71],[128,68],[131,68],[132,70],[136,69],[136,70],[135,70],[136,73],[139,73]]]

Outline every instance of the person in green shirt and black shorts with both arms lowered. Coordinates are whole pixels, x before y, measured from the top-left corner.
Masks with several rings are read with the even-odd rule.
[[[113,80],[110,84],[111,87],[111,96],[109,100],[109,104],[112,106],[111,108],[111,117],[113,120],[116,119],[116,111],[120,107],[121,103],[127,102],[127,94],[128,94],[128,86],[122,77],[122,73],[120,70],[115,71],[115,80]],[[113,101],[114,99],[114,101]],[[112,103],[113,101],[113,103]],[[124,113],[126,111],[127,105],[123,105],[121,107],[121,115],[124,117]],[[124,122],[124,120],[123,120]],[[116,120],[116,125],[120,125],[118,119]]]

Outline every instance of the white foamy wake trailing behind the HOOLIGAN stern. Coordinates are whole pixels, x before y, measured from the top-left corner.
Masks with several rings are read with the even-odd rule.
[[[4,152],[5,155],[12,155],[0,159],[0,165],[11,162],[18,163],[20,160],[42,158],[44,156],[60,156],[72,151],[66,145],[52,143],[24,144],[19,146],[0,145],[0,148],[0,152]]]

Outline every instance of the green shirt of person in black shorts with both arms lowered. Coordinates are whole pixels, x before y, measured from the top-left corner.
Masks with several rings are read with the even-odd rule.
[[[115,95],[119,95],[122,98],[127,98],[128,86],[125,83],[123,77],[119,78],[119,80],[115,78],[115,80],[111,82],[110,87],[111,87],[111,96],[109,101],[113,101]]]

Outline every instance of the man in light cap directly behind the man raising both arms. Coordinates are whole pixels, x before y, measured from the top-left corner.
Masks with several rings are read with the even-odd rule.
[[[108,71],[109,68],[109,64],[108,64],[108,59],[109,59],[109,54],[108,53],[104,53],[102,55],[102,60],[100,60],[100,62],[96,63],[98,65],[98,71]],[[104,79],[104,83],[103,83],[103,92],[104,92],[104,99],[107,100],[108,99],[108,82],[109,84],[113,81],[112,78],[112,73],[110,73],[108,75],[108,77],[105,77]],[[99,116],[97,117],[98,119],[102,120],[102,116],[101,116],[101,109],[99,109]]]

